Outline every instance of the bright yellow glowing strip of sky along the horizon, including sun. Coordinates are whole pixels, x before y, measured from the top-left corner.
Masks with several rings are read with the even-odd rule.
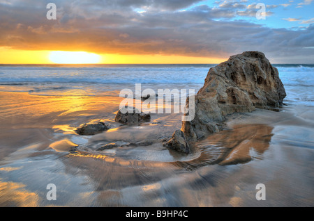
[[[227,56],[192,57],[151,54],[93,54],[79,51],[30,51],[0,47],[2,64],[218,64]]]

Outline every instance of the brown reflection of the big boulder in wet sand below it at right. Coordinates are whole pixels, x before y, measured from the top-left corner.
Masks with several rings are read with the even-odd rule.
[[[207,158],[213,158],[212,163],[247,163],[253,158],[262,158],[269,147],[273,129],[265,124],[237,125],[232,130],[209,136],[197,145],[206,149],[204,152],[209,155]]]

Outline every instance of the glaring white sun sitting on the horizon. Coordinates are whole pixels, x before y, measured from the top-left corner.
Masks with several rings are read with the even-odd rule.
[[[101,56],[85,51],[51,51],[49,59],[56,64],[97,64]]]

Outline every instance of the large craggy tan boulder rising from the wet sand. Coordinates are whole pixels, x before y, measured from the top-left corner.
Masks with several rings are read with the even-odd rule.
[[[204,86],[195,95],[195,118],[182,123],[182,137],[196,140],[216,133],[220,122],[232,113],[252,112],[256,108],[278,111],[285,96],[278,69],[262,52],[245,51],[231,56],[209,69]]]

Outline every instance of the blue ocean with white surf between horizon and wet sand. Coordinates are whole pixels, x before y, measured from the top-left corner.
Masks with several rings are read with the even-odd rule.
[[[0,91],[31,95],[105,96],[135,83],[198,90],[215,65],[0,65]],[[286,102],[314,105],[314,65],[274,65]]]

